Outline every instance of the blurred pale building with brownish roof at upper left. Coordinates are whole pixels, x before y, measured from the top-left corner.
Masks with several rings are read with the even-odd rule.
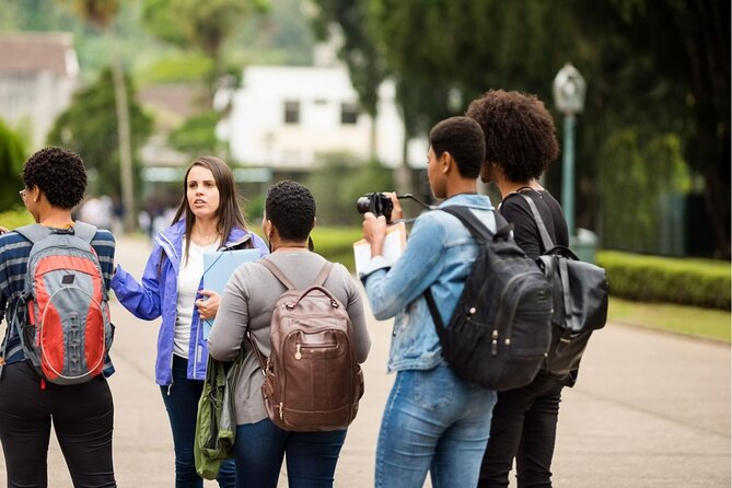
[[[31,151],[43,148],[56,117],[78,85],[70,33],[0,33],[0,118],[30,130]]]

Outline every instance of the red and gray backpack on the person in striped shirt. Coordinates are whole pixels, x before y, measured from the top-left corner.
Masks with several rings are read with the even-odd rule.
[[[112,346],[107,289],[92,247],[96,228],[15,229],[33,243],[25,288],[13,314],[23,352],[43,380],[61,385],[98,375]],[[43,385],[43,383],[42,383]]]

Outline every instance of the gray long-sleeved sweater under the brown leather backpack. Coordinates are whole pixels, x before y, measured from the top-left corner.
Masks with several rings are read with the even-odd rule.
[[[267,256],[298,287],[304,289],[313,284],[325,264],[325,258],[310,252],[279,252]],[[359,362],[363,362],[371,348],[371,339],[365,325],[363,304],[359,289],[345,266],[336,264],[325,281],[325,288],[340,301],[348,311],[353,327],[353,345]],[[245,263],[232,275],[226,283],[211,334],[208,338],[209,353],[220,361],[231,361],[244,347],[245,358],[236,385],[236,423],[255,423],[267,418],[262,399],[264,375],[252,346],[246,340],[246,326],[263,355],[269,356],[269,322],[275,302],[286,288],[259,263]]]

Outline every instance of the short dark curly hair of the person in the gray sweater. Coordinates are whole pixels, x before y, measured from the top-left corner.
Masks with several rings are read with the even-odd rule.
[[[315,225],[315,198],[305,186],[279,182],[267,191],[265,213],[287,241],[304,241]]]

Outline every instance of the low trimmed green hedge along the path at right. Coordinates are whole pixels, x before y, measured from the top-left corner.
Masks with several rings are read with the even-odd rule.
[[[730,310],[730,263],[602,251],[611,294],[642,302],[670,302]]]

